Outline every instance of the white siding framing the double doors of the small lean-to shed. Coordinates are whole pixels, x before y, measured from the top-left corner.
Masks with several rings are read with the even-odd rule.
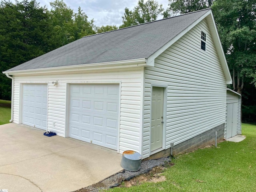
[[[241,132],[241,97],[238,94],[235,94],[227,90],[224,138],[226,138],[226,135],[227,135],[228,103],[237,103],[237,106],[238,106],[236,109],[237,110],[237,134],[242,134]]]

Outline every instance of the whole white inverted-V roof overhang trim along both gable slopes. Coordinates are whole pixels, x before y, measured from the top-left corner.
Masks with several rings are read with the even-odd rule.
[[[149,66],[154,66],[154,60],[162,54],[167,48],[169,48],[172,44],[174,44],[177,40],[179,40],[182,36],[184,36],[189,30],[191,30],[194,26],[196,26],[199,22],[201,22],[204,18],[206,18],[208,26],[210,28],[210,31],[212,32],[212,38],[214,41],[214,45],[216,46],[216,51],[220,59],[220,64],[222,66],[225,78],[226,78],[226,84],[232,84],[232,77],[230,75],[230,71],[228,69],[228,64],[226,61],[226,56],[224,54],[222,44],[220,42],[220,37],[218,34],[218,30],[215,24],[215,20],[212,14],[212,10],[209,9],[208,12],[206,12],[204,15],[202,15],[198,20],[196,20],[194,23],[192,23],[188,28],[183,30],[181,33],[179,33],[176,37],[174,37],[172,40],[170,40],[167,44],[162,46],[160,49],[158,49],[154,54],[148,57],[148,64]]]

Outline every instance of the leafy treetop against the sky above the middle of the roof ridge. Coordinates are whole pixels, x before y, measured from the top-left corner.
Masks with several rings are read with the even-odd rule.
[[[146,2],[139,0],[133,10],[129,10],[127,7],[124,9],[123,24],[119,28],[155,21],[163,11],[162,4],[159,5],[154,0]]]

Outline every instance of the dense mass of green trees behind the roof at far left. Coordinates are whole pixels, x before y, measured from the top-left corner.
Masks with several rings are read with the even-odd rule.
[[[0,72],[36,58],[83,36],[95,34],[94,21],[78,8],[74,13],[63,0],[51,10],[36,0],[0,3]],[[0,98],[10,100],[11,80],[0,73]]]

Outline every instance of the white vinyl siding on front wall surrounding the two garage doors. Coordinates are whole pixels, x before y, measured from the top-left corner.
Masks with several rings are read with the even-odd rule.
[[[97,70],[59,74],[15,75],[14,78],[14,121],[19,120],[20,83],[48,83],[47,130],[60,136],[66,135],[67,84],[76,83],[118,83],[120,84],[119,152],[135,150],[140,152],[140,112],[142,101],[141,82],[143,68],[120,70]],[[52,81],[58,80],[58,85]],[[68,106],[68,105],[67,105]]]

